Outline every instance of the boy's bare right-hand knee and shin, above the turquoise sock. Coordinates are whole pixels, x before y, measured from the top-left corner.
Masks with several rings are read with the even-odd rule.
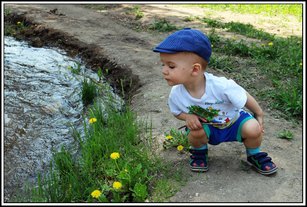
[[[256,119],[247,120],[241,128],[243,143],[248,149],[260,147],[262,142],[261,127]]]

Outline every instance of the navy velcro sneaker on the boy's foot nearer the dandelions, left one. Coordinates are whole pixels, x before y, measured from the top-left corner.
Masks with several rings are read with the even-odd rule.
[[[207,171],[208,170],[208,149],[191,149],[190,168],[194,171]]]

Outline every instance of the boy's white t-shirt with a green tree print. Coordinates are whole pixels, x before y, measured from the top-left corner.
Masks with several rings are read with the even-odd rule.
[[[206,90],[200,99],[193,98],[185,87],[173,86],[169,107],[174,115],[181,112],[201,115],[209,122],[226,123],[236,117],[247,101],[245,90],[225,77],[204,73]]]

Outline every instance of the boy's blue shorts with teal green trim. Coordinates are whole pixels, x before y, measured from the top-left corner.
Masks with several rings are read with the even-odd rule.
[[[241,137],[241,128],[242,125],[249,119],[255,119],[251,113],[245,111],[240,111],[240,117],[229,127],[225,129],[220,129],[212,125],[203,125],[204,130],[206,131],[207,137],[209,138],[210,145],[218,145],[222,142],[228,141],[239,141],[243,142]],[[187,135],[189,129],[185,128]]]

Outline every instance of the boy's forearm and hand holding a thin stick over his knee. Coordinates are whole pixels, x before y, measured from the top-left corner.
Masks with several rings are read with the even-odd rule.
[[[179,115],[174,115],[174,117],[179,120],[185,121],[185,125],[189,130],[203,129],[204,127],[201,125],[200,121],[207,122],[206,119],[200,117],[199,115],[187,114],[185,112],[181,112]]]

